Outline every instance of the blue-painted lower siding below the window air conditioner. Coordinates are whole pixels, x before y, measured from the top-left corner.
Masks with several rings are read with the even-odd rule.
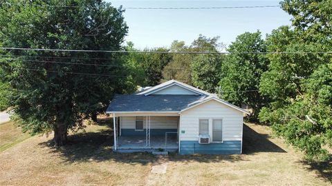
[[[241,154],[241,141],[199,144],[198,141],[181,141],[180,154]]]

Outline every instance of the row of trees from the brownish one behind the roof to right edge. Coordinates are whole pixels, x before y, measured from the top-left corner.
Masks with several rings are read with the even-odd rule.
[[[326,53],[332,51],[332,1],[281,5],[293,16],[292,27],[276,28],[265,39],[259,31],[240,34],[227,48],[232,54],[170,55],[159,81],[182,80],[245,103],[249,121],[271,125],[308,159],[326,160],[332,147],[332,59]],[[192,45],[174,41],[169,51],[218,52],[217,43],[218,37],[200,36]]]

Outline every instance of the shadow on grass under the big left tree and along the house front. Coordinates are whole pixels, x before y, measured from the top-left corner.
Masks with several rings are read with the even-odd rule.
[[[42,147],[48,147],[50,141],[39,143]],[[59,154],[66,163],[88,161],[116,161],[128,164],[154,163],[159,157],[147,152],[118,153],[113,152],[113,130],[99,130],[97,132],[82,132],[68,136],[68,143],[64,147],[48,147],[49,153]],[[178,155],[171,153],[169,161],[181,162],[221,162],[243,161],[242,155]]]

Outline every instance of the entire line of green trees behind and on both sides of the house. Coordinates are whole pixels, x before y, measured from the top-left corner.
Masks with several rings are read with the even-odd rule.
[[[124,44],[128,28],[123,10],[110,3],[6,2],[0,3],[0,45],[128,51],[1,51],[0,109],[14,110],[17,122],[32,134],[54,131],[56,145],[64,145],[68,130],[81,129],[84,119],[103,112],[113,94],[177,79],[235,105],[246,104],[252,111],[249,121],[271,125],[309,159],[331,156],[332,59],[324,53],[332,51],[331,1],[282,1],[293,16],[292,25],[280,26],[265,38],[259,31],[245,32],[225,48],[219,37],[199,35],[189,45],[174,41],[169,48],[142,51],[131,42]],[[231,54],[172,53],[223,50]],[[37,57],[46,62],[27,63]],[[70,63],[57,63],[64,58]]]

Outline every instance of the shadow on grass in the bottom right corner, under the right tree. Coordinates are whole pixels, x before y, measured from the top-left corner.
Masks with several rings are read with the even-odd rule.
[[[316,172],[317,176],[320,176],[320,178],[323,178],[324,180],[332,183],[332,156],[330,157],[329,161],[299,161],[299,163],[302,163],[306,169]]]

